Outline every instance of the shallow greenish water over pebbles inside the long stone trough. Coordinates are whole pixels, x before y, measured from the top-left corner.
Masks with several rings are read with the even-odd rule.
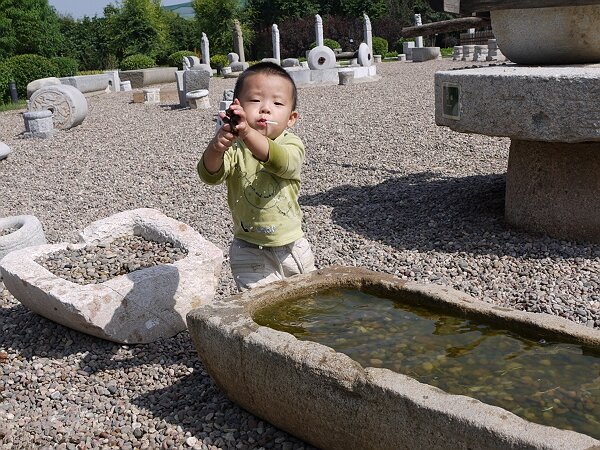
[[[600,438],[600,351],[483,322],[330,290],[263,308],[263,326],[319,342],[524,419]]]

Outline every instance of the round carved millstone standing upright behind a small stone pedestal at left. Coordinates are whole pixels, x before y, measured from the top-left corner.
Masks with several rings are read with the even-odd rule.
[[[30,111],[48,109],[53,113],[54,128],[68,130],[83,122],[87,116],[87,100],[73,86],[46,86],[38,89],[29,100]]]

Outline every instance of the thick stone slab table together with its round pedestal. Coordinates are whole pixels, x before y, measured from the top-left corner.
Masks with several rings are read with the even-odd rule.
[[[435,74],[435,120],[511,139],[506,222],[600,242],[600,65],[519,66]]]

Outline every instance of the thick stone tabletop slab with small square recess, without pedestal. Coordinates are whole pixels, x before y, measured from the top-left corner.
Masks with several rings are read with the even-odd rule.
[[[448,83],[460,90],[458,119],[443,116],[443,87]],[[595,66],[508,64],[435,74],[435,121],[463,133],[530,141],[597,142],[598,98],[600,70]]]

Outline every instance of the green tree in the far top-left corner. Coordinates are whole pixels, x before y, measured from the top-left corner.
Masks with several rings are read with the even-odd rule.
[[[0,58],[55,56],[61,42],[58,15],[48,0],[0,0]]]

